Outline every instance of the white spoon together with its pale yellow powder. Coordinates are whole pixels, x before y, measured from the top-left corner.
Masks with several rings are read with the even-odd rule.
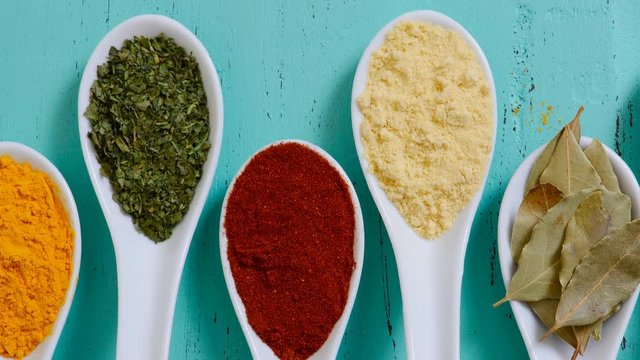
[[[356,150],[395,252],[409,359],[459,358],[464,255],[496,108],[482,50],[437,12],[391,21],[358,65]]]

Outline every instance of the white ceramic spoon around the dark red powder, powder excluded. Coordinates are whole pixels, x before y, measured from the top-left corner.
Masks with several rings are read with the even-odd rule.
[[[356,216],[356,233],[354,238],[354,247],[353,247],[353,258],[356,263],[356,267],[353,270],[353,275],[351,275],[351,283],[349,285],[349,295],[347,298],[347,303],[344,307],[344,311],[342,312],[342,316],[338,319],[333,330],[329,334],[327,341],[322,345],[322,347],[313,354],[310,359],[335,359],[338,355],[338,350],[340,349],[340,343],[342,342],[342,336],[344,335],[344,330],[347,327],[347,323],[349,322],[349,316],[351,315],[351,309],[353,308],[353,303],[356,299],[356,294],[358,293],[358,285],[360,284],[360,274],[362,273],[362,263],[364,261],[364,223],[362,222],[362,210],[360,209],[360,202],[358,201],[358,196],[356,195],[355,190],[353,189],[353,185],[351,184],[351,180],[344,172],[340,164],[331,157],[327,152],[322,150],[320,147],[308,143],[302,140],[283,140],[278,141],[273,144],[267,145],[264,148],[258,150],[256,154],[266,149],[267,147],[280,143],[287,142],[296,142],[305,146],[308,146],[323,158],[325,158],[342,176],[342,179],[349,186],[349,192],[351,194],[351,201],[353,202],[353,206],[355,209]],[[242,303],[242,299],[240,295],[238,295],[238,291],[236,290],[236,283],[233,280],[233,274],[231,273],[231,265],[229,263],[229,259],[227,258],[227,235],[224,229],[224,218],[227,210],[227,200],[229,199],[229,194],[233,189],[233,185],[236,182],[236,179],[242,172],[245,167],[251,161],[251,159],[256,155],[254,154],[247,160],[247,162],[242,165],[240,171],[235,176],[229,188],[227,189],[227,194],[224,197],[224,202],[222,203],[222,213],[220,215],[220,258],[222,259],[222,271],[224,272],[224,279],[227,283],[227,288],[229,289],[229,295],[231,296],[231,302],[233,303],[233,308],[236,311],[236,315],[238,316],[238,321],[240,321],[240,326],[242,327],[242,331],[244,332],[244,336],[247,339],[247,343],[249,344],[249,349],[251,350],[251,355],[255,360],[265,360],[265,359],[277,359],[278,357],[273,353],[273,350],[265,344],[262,339],[256,334],[253,330],[249,321],[247,320],[247,314],[245,312],[244,304]]]

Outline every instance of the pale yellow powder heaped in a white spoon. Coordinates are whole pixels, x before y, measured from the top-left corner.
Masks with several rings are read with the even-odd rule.
[[[438,237],[478,191],[491,153],[495,109],[475,52],[440,26],[399,23],[371,57],[358,105],[378,183],[420,236]]]

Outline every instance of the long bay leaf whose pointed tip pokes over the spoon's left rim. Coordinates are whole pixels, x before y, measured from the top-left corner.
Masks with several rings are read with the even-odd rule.
[[[560,298],[562,288],[558,274],[564,229],[578,206],[593,191],[585,189],[562,199],[540,219],[533,228],[531,240],[522,249],[507,295],[494,307],[509,300]]]

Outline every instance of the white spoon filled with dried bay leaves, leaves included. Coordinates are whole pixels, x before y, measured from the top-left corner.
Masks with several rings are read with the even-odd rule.
[[[640,223],[629,223],[640,215],[638,182],[611,149],[582,137],[580,146],[587,149],[582,152],[574,135],[580,135],[577,120],[548,148],[529,155],[511,178],[500,208],[498,249],[508,295],[499,303],[512,300],[532,359],[578,357],[574,347],[584,359],[615,359],[638,297],[637,282],[624,280],[638,274],[617,265],[640,256],[625,253],[638,246],[633,237]],[[616,251],[618,257],[608,264]],[[602,293],[610,299],[599,300]],[[548,327],[558,321],[586,326],[562,327],[549,336]],[[594,341],[594,334],[601,339]]]

